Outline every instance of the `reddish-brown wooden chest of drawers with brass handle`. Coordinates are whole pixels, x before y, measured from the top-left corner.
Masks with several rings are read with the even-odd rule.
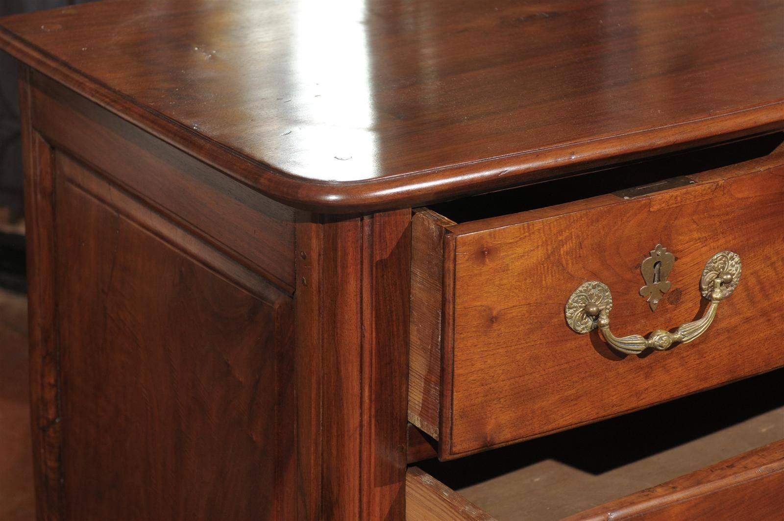
[[[409,464],[784,366],[782,16],[96,2],[0,21],[39,518],[489,519]],[[782,472],[779,443],[607,512],[775,515]]]

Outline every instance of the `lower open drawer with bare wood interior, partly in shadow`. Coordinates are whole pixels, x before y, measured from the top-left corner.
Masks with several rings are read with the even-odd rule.
[[[426,483],[447,487],[441,497],[454,500],[452,512],[501,521],[781,519],[782,377],[784,369],[771,371],[452,461],[421,453],[426,459],[409,459],[429,476]],[[437,513],[445,508],[428,508],[438,501],[424,497],[421,487],[419,494],[407,487],[409,512],[417,502],[430,511],[408,519],[442,519]]]

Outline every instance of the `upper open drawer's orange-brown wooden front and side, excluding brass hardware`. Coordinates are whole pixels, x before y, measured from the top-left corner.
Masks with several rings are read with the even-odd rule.
[[[429,236],[433,242],[442,230],[438,269],[431,246],[414,249],[415,274],[441,279],[433,286],[442,308],[439,315],[422,304],[420,293],[431,292],[415,276],[409,416],[439,439],[441,458],[784,365],[784,291],[777,283],[784,274],[784,168],[755,170],[726,178],[702,174],[694,184],[637,199],[604,195],[466,224],[418,213],[415,240]],[[675,261],[670,290],[652,312],[640,294],[641,262],[657,244]],[[612,291],[618,337],[691,322],[709,304],[700,293],[702,270],[723,250],[739,254],[742,279],[691,343],[624,355],[597,330],[579,334],[567,324],[564,304],[593,280]],[[428,258],[429,265],[421,262]],[[440,338],[430,334],[438,348],[425,340],[432,322],[441,327]]]

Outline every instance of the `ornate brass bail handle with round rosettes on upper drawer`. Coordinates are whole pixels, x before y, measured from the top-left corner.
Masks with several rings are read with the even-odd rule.
[[[688,344],[705,333],[716,317],[719,302],[738,287],[740,271],[740,257],[737,253],[723,251],[710,257],[699,280],[702,297],[710,300],[710,306],[701,319],[688,322],[673,333],[655,330],[648,338],[641,335],[616,337],[610,331],[612,295],[610,289],[597,280],[584,282],[569,297],[565,310],[566,322],[577,333],[590,333],[598,327],[611,348],[628,355],[635,355],[647,348],[664,351],[676,343]]]

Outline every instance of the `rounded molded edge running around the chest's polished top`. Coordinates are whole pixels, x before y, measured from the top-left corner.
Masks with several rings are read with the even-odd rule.
[[[288,206],[315,213],[368,213],[566,177],[581,169],[784,129],[784,99],[687,122],[554,144],[477,162],[396,176],[319,181],[239,154],[58,60],[0,26],[0,49],[155,137]]]

